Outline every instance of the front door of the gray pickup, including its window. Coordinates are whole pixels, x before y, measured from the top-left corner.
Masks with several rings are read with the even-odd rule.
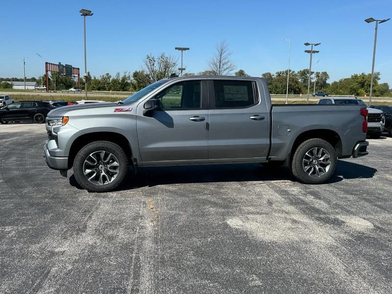
[[[208,159],[206,93],[206,81],[180,81],[152,98],[162,110],[143,115],[144,103],[139,104],[137,132],[144,164]]]

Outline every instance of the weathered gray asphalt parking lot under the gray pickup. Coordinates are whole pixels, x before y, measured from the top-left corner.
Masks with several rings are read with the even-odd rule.
[[[258,164],[129,173],[88,193],[0,125],[0,293],[391,293],[392,138],[323,185]]]

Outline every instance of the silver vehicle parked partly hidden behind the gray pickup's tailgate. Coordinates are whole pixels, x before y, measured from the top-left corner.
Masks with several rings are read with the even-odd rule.
[[[339,104],[339,105],[363,105],[368,109],[368,136],[370,138],[380,138],[384,131],[385,118],[381,110],[370,108],[363,100],[358,98],[331,97],[322,98],[318,104]]]

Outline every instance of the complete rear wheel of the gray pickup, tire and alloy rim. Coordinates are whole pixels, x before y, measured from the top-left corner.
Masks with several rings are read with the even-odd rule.
[[[321,184],[335,172],[337,156],[334,147],[322,139],[309,139],[294,152],[292,172],[304,184]]]

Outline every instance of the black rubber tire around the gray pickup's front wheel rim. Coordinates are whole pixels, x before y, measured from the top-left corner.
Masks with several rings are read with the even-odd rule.
[[[104,185],[98,185],[90,182],[83,171],[83,165],[86,157],[97,151],[110,152],[119,161],[118,174],[116,178],[112,182]],[[126,174],[127,164],[128,159],[124,153],[123,148],[113,142],[96,141],[87,144],[85,147],[81,148],[80,151],[76,154],[76,157],[73,161],[73,175],[75,176],[77,183],[81,187],[86,189],[88,192],[109,192],[115,189],[123,181]]]

